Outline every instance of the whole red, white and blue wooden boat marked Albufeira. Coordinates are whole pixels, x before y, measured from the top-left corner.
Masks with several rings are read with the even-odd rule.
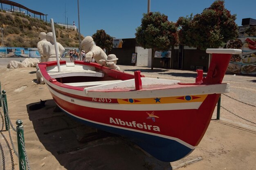
[[[207,49],[206,77],[195,82],[146,78],[112,70],[94,62],[39,63],[56,104],[88,126],[124,135],[161,161],[177,161],[198,146],[221,93],[232,54],[237,49]]]

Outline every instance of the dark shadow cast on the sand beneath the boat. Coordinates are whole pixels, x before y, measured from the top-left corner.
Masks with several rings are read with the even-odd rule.
[[[172,169],[170,163],[162,162],[143,152],[125,137],[98,131],[85,126],[60,109],[53,99],[45,107],[29,110],[36,135],[45,149],[67,170],[158,170]]]

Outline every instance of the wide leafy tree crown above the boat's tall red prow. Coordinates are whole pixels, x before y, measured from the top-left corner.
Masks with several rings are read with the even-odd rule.
[[[201,50],[224,47],[228,40],[238,37],[235,20],[236,15],[225,9],[224,0],[216,0],[201,14],[177,20],[176,26],[182,27],[179,31],[180,44]]]

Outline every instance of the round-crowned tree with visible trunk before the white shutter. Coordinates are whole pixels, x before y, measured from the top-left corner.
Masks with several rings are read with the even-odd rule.
[[[159,12],[144,13],[141,25],[136,29],[136,41],[144,49],[152,49],[152,64],[155,51],[166,51],[178,44],[177,27],[168,17]]]

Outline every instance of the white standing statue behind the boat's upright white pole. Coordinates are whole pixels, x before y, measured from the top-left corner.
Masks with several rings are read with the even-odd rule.
[[[46,40],[47,42],[43,44],[43,55],[46,57],[47,62],[56,61],[57,59],[56,59],[56,52],[55,52],[52,32],[49,32],[46,34]],[[65,49],[60,43],[57,42],[57,44],[58,44],[58,57],[61,60],[61,56],[65,52]]]

